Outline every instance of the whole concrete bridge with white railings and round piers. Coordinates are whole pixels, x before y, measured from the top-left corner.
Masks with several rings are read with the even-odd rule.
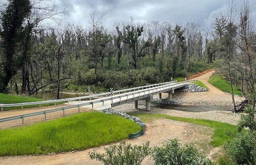
[[[171,81],[166,83],[147,85],[143,87],[136,87],[136,88],[124,89],[124,90],[113,92],[113,93],[117,93],[117,95],[110,95],[110,92],[106,92],[106,93],[101,93],[96,95],[87,95],[82,97],[59,99],[59,100],[48,100],[48,101],[42,101],[42,102],[0,104],[0,108],[2,111],[4,110],[5,107],[11,107],[11,106],[21,106],[22,109],[23,109],[23,106],[27,106],[27,105],[39,106],[39,108],[34,109],[32,113],[23,113],[22,111],[20,111],[20,114],[18,116],[8,115],[4,118],[0,117],[0,122],[22,119],[22,123],[24,123],[23,121],[25,117],[37,116],[42,114],[45,115],[45,120],[46,120],[46,114],[57,112],[57,111],[63,111],[63,115],[64,115],[65,110],[68,110],[68,109],[78,108],[79,112],[80,112],[80,107],[85,107],[85,108],[94,109],[94,110],[104,110],[106,108],[111,108],[114,106],[118,106],[124,103],[131,103],[131,102],[134,102],[134,108],[137,109],[138,100],[145,100],[146,110],[150,111],[150,101],[153,99],[153,95],[158,94],[158,98],[162,99],[162,93],[168,93],[168,99],[171,100],[172,94],[174,93],[174,89],[183,88],[186,84],[191,82],[193,81],[182,81],[182,82]],[[106,96],[106,95],[110,95],[110,96]],[[100,98],[81,101],[81,99],[88,99],[88,98],[95,98],[95,97],[100,97]],[[75,101],[75,100],[78,100],[78,101]],[[68,102],[66,104],[68,104],[69,106],[64,106],[64,107],[50,109],[50,110],[40,109],[41,104],[44,104],[44,103],[56,104],[57,102]]]

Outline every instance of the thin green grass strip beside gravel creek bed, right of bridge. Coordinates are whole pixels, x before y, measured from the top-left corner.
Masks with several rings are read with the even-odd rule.
[[[194,119],[194,118],[184,118],[184,117],[174,117],[165,114],[143,114],[136,113],[130,114],[131,116],[139,117],[143,122],[149,122],[158,118],[166,118],[175,121],[183,121],[187,123],[203,125],[207,127],[214,128],[214,134],[211,136],[211,145],[213,147],[218,147],[224,144],[228,140],[232,140],[233,137],[238,133],[237,127],[235,125],[230,125],[227,123],[222,123],[218,121],[211,121],[205,119]]]

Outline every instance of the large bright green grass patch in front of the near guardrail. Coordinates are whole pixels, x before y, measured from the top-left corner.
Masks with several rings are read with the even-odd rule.
[[[114,114],[79,113],[0,130],[0,156],[85,150],[128,138],[140,129],[135,122]]]

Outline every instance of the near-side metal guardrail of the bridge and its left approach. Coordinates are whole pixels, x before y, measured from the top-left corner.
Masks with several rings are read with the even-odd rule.
[[[196,81],[196,80],[193,80],[193,81]],[[57,111],[63,110],[63,115],[64,115],[64,111],[65,110],[72,109],[72,108],[75,108],[75,107],[78,107],[78,111],[80,112],[80,106],[86,106],[86,105],[90,105],[91,104],[92,105],[92,109],[93,109],[94,108],[93,107],[94,103],[101,103],[102,102],[102,105],[104,105],[104,101],[108,101],[108,100],[112,100],[113,101],[113,99],[119,98],[120,102],[118,102],[116,104],[113,104],[113,102],[112,102],[112,104],[111,104],[112,106],[117,106],[117,105],[122,104],[122,102],[123,103],[128,103],[131,100],[143,99],[143,98],[148,97],[150,95],[154,95],[154,94],[157,94],[157,93],[160,93],[160,92],[166,92],[170,88],[180,88],[181,86],[187,84],[188,82],[193,82],[193,81],[185,81],[185,82],[183,81],[183,82],[175,83],[175,84],[162,85],[160,88],[163,88],[163,90],[161,90],[159,88],[159,86],[158,86],[158,87],[143,89],[143,90],[140,90],[140,91],[128,92],[128,93],[124,93],[124,94],[120,94],[120,95],[116,95],[116,96],[108,96],[108,97],[105,97],[105,98],[90,100],[87,103],[81,103],[81,104],[78,104],[78,105],[66,106],[66,107],[57,108],[57,109],[53,109],[53,110],[45,110],[45,111],[40,111],[40,112],[35,112],[35,113],[30,113],[30,114],[23,114],[23,115],[14,116],[14,117],[2,118],[2,119],[0,119],[0,122],[22,119],[22,122],[24,124],[24,117],[37,116],[37,115],[41,115],[41,114],[45,114],[45,120],[46,120],[46,114],[47,113],[57,112]],[[150,91],[152,91],[152,92],[150,92]],[[135,96],[138,93],[139,93],[139,96]],[[140,93],[143,93],[143,95],[140,95]],[[129,95],[133,95],[133,97],[129,99],[128,98]],[[121,97],[126,97],[126,99],[125,100],[121,100]]]

